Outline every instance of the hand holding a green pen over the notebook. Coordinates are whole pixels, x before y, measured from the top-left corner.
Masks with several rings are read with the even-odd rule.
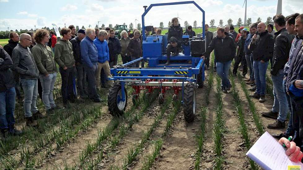
[[[281,138],[279,140],[281,145],[285,144],[287,150],[286,155],[289,156],[289,159],[293,162],[301,162],[303,158],[303,153],[300,151],[300,147],[296,146],[295,142],[289,142],[287,138]]]

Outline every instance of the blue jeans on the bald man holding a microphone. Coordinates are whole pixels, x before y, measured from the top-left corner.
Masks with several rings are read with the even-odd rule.
[[[257,94],[265,95],[266,89],[266,70],[268,62],[261,63],[261,61],[253,61],[253,71],[255,75],[256,85],[257,85]]]

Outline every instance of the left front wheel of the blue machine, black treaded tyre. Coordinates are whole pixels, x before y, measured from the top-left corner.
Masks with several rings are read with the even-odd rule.
[[[119,100],[122,98],[121,84],[115,83],[108,93],[108,110],[112,116],[119,117],[123,115],[127,106],[127,92],[125,92],[125,101]],[[119,100],[119,101],[118,101]]]

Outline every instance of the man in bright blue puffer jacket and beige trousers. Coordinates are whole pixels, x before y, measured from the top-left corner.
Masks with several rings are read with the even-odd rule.
[[[94,39],[94,45],[98,49],[98,69],[96,73],[96,87],[100,89],[100,74],[101,70],[104,70],[106,77],[111,76],[109,67],[109,49],[105,37],[108,36],[108,32],[101,30],[99,32],[99,37]],[[112,85],[113,80],[108,81],[109,85]],[[104,85],[104,84],[103,84]]]

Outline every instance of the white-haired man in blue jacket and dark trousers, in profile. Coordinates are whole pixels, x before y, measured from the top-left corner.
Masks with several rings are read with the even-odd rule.
[[[80,50],[81,61],[88,78],[87,92],[91,100],[96,103],[100,103],[102,100],[97,93],[95,79],[95,74],[98,68],[98,50],[96,45],[93,43],[93,40],[96,37],[95,29],[87,28],[85,30],[85,35],[86,37],[81,40]]]

